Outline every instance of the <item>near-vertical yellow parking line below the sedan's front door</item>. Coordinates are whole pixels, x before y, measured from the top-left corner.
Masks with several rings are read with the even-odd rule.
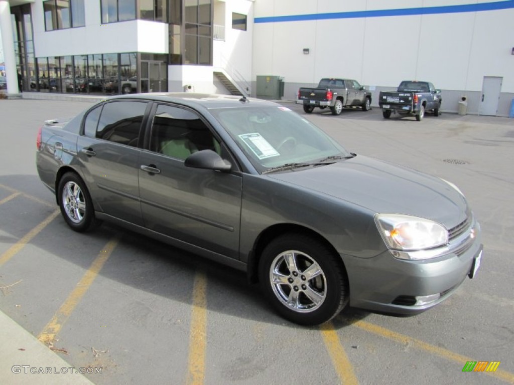
[[[207,348],[207,277],[197,272],[193,286],[193,311],[189,335],[188,385],[201,385],[205,378]]]

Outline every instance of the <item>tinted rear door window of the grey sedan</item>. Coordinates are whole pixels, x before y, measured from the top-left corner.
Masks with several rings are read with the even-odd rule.
[[[129,101],[106,103],[100,114],[96,138],[137,147],[147,104]]]

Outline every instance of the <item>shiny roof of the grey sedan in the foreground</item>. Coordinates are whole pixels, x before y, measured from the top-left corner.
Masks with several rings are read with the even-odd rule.
[[[141,99],[159,102],[178,103],[190,107],[204,108],[226,108],[226,107],[255,107],[259,106],[277,106],[277,103],[271,101],[245,98],[238,95],[223,95],[198,92],[153,92],[153,93],[132,93],[127,95],[118,95],[106,99],[106,101],[124,100],[124,99]]]

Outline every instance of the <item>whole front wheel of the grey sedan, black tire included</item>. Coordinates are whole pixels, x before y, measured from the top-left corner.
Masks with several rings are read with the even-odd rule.
[[[264,249],[259,278],[264,294],[284,318],[318,325],[348,302],[347,279],[338,256],[323,242],[286,234]]]

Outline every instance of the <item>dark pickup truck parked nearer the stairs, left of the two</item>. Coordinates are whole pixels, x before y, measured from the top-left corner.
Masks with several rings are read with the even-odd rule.
[[[329,107],[334,115],[339,115],[346,106],[360,106],[363,111],[368,111],[371,109],[371,92],[352,79],[324,78],[318,88],[300,88],[297,103],[303,104],[307,113],[313,112],[315,107]]]

